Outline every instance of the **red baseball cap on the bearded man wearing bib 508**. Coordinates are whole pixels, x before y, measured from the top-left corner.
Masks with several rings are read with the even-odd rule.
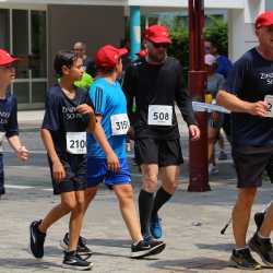
[[[171,44],[169,31],[164,25],[151,25],[146,28],[144,37],[155,44]]]

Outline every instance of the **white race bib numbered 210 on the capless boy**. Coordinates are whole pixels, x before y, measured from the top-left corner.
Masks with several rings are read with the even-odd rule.
[[[86,154],[86,132],[67,132],[67,151],[70,154]]]

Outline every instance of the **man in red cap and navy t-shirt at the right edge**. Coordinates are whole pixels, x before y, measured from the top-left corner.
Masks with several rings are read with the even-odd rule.
[[[232,147],[237,171],[238,198],[233,210],[236,246],[230,261],[249,270],[261,268],[247,247],[246,236],[257,189],[273,159],[273,12],[260,14],[254,27],[259,45],[236,61],[217,95],[217,103],[232,110]],[[249,247],[272,266],[273,205],[263,221],[256,222],[258,230]]]

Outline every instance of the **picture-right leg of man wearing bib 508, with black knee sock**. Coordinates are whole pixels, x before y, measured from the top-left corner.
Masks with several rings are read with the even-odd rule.
[[[173,197],[178,186],[180,173],[179,166],[167,166],[159,168],[162,187],[157,190],[154,206],[152,211],[152,219],[158,218],[157,212]]]

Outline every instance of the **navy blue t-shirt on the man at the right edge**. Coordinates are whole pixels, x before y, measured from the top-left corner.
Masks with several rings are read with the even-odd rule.
[[[235,62],[223,90],[246,102],[264,100],[265,95],[273,95],[273,61],[250,49]],[[236,145],[273,145],[273,118],[233,112],[232,138]]]

